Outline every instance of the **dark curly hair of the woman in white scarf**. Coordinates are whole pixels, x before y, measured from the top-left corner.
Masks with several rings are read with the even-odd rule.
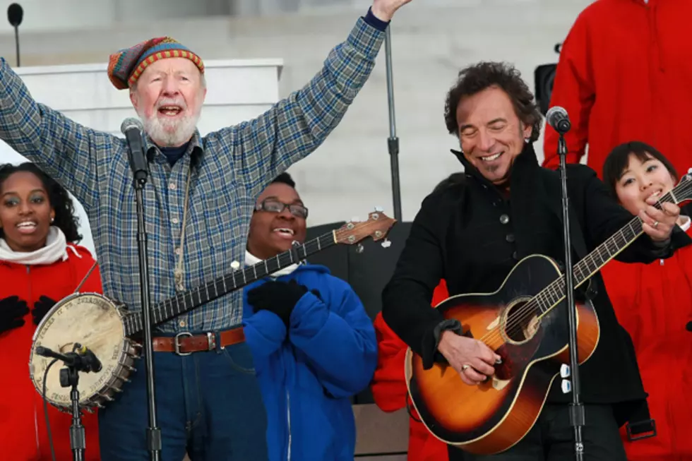
[[[78,243],[82,239],[82,236],[77,231],[79,218],[75,215],[74,203],[65,188],[42,172],[36,164],[24,162],[18,165],[11,163],[0,165],[0,189],[8,177],[18,172],[35,174],[41,180],[43,187],[48,192],[50,205],[55,210],[55,220],[52,225],[60,228],[68,242]],[[2,228],[0,228],[0,238],[4,237],[5,234],[2,232]]]

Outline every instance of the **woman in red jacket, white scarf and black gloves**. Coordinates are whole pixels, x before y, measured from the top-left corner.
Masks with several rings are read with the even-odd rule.
[[[32,335],[46,313],[72,294],[95,261],[79,241],[64,188],[32,163],[0,167],[0,447],[3,459],[51,460],[43,401],[29,378]],[[95,268],[81,292],[101,292]],[[71,415],[48,407],[55,459],[72,459]],[[96,414],[84,414],[85,460],[99,459]]]

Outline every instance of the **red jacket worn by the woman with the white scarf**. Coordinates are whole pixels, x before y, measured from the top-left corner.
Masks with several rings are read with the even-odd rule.
[[[94,263],[83,246],[67,245],[68,258],[48,265],[23,265],[0,261],[0,299],[18,296],[32,310],[42,296],[54,301],[72,294]],[[102,292],[96,268],[80,292]],[[0,396],[0,447],[3,459],[13,461],[51,460],[43,400],[29,377],[29,354],[36,330],[31,313],[23,327],[0,333],[0,364],[3,366],[3,393]],[[48,406],[50,429],[57,461],[72,460],[70,414]],[[97,415],[83,414],[86,461],[100,459]]]

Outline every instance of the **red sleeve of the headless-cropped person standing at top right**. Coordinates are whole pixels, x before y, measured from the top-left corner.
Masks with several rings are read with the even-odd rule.
[[[591,44],[587,11],[580,14],[562,44],[557,65],[550,107],[564,107],[570,117],[572,128],[565,135],[567,162],[579,163],[584,155],[589,134],[589,115],[595,100],[593,84]],[[560,166],[557,155],[559,136],[545,127],[543,143],[543,166],[556,169]]]

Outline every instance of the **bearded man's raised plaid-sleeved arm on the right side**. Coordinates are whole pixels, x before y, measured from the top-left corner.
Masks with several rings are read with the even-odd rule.
[[[400,6],[407,1],[377,3]],[[270,179],[316,150],[339,124],[374,67],[389,18],[373,6],[365,18],[358,19],[345,42],[331,50],[304,88],[256,119],[210,136],[232,146],[234,168],[243,174],[253,196]]]

